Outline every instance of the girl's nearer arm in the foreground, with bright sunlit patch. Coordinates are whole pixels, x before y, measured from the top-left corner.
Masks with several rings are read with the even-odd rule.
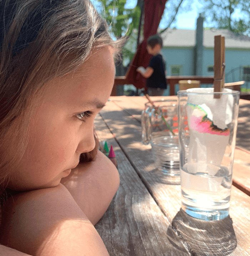
[[[62,184],[20,193],[6,204],[2,245],[33,256],[108,256],[94,226]]]

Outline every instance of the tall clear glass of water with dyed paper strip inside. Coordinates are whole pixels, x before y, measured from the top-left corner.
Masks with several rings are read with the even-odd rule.
[[[206,221],[229,214],[239,91],[178,91],[181,208]]]

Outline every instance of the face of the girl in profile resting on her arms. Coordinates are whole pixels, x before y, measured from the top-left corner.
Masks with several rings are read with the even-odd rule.
[[[95,147],[94,118],[114,84],[109,47],[98,49],[76,72],[46,86],[30,123],[29,143],[8,188],[33,190],[57,186]]]

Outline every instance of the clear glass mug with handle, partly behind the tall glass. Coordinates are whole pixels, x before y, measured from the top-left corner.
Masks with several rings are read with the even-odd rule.
[[[177,99],[145,104],[142,111],[142,143],[152,146],[156,173],[171,184],[180,184]]]

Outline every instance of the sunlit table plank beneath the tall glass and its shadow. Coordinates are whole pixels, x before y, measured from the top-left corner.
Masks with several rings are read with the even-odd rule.
[[[206,222],[208,223],[206,229],[200,222],[191,227],[186,225],[186,215],[182,216],[180,211],[180,185],[169,184],[164,175],[155,170],[151,158],[151,146],[142,145],[140,142],[139,122],[127,112],[121,111],[121,107],[117,104],[113,100],[108,102],[101,111],[101,116],[137,175],[165,214],[167,221],[171,223],[167,234],[172,233],[173,230],[177,234],[176,240],[172,238],[172,243],[181,241],[190,255],[249,255],[250,197],[232,186],[230,201],[232,221],[228,217],[224,221],[216,222],[215,226],[213,224],[215,222]],[[176,223],[179,223],[180,218],[183,223],[178,226]],[[197,233],[196,237],[192,238],[194,230]],[[214,238],[211,242],[212,236]]]

